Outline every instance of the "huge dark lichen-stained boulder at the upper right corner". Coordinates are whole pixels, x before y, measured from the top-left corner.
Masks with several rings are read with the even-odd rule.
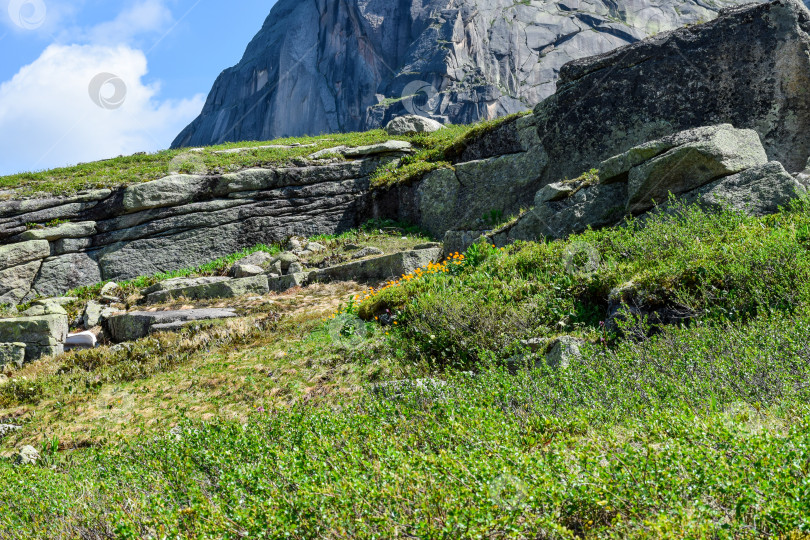
[[[810,155],[810,12],[775,0],[563,66],[534,120],[544,183],[646,141],[729,123],[753,129],[791,173]],[[648,158],[645,158],[648,159]]]

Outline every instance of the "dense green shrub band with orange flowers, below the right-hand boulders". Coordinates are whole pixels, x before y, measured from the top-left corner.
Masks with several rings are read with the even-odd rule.
[[[360,308],[399,314],[409,354],[468,365],[521,339],[599,337],[616,298],[685,321],[749,320],[810,302],[805,202],[767,218],[673,205],[666,213],[566,240],[476,244],[453,272],[375,293]],[[797,232],[799,231],[799,232]],[[510,346],[510,344],[512,346]]]

